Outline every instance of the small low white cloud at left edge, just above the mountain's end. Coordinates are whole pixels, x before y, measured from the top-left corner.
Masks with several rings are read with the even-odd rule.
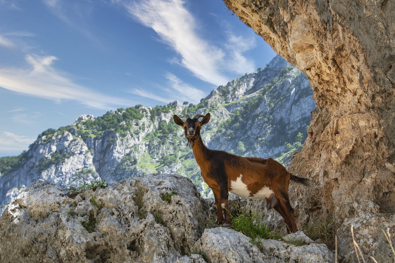
[[[0,135],[0,152],[20,153],[28,149],[28,145],[33,143],[35,138],[17,135],[12,132],[3,131]]]

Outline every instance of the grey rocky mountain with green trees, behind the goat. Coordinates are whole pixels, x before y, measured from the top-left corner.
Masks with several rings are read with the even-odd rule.
[[[148,173],[190,178],[203,196],[204,184],[192,150],[173,115],[211,113],[202,130],[209,148],[287,163],[307,137],[316,107],[306,76],[280,56],[265,69],[221,85],[198,105],[174,101],[154,108],[136,105],[48,129],[29,150],[0,158],[1,212],[38,179],[65,188],[101,178],[111,183]]]

